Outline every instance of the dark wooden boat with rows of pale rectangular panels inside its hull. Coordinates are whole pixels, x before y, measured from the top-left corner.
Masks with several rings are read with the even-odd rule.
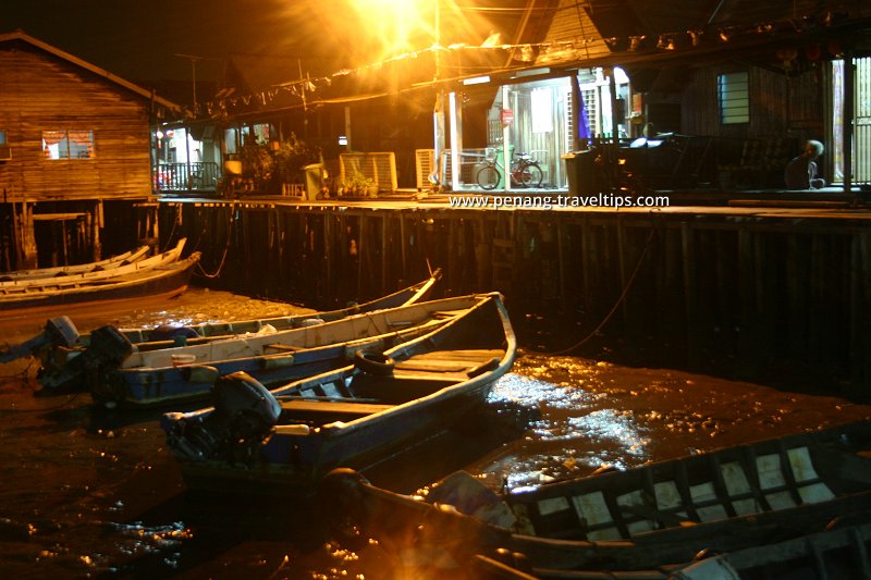
[[[869,449],[871,421],[860,421],[502,495],[437,484],[425,501],[348,471],[331,473],[324,493],[341,507],[340,541],[363,530],[382,543],[415,538],[461,563],[503,548],[540,578],[636,578],[629,572],[786,540],[839,517],[870,521]]]

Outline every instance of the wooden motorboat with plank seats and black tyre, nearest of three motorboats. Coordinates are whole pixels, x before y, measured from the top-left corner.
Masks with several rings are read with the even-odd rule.
[[[486,400],[517,346],[499,294],[381,356],[267,391],[223,378],[214,407],[164,414],[191,489],[307,494],[332,468],[363,469],[408,451]]]

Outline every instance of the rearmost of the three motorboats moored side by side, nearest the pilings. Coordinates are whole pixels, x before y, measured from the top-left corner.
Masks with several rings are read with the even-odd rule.
[[[201,344],[219,336],[258,333],[269,328],[278,331],[298,329],[312,323],[330,322],[353,314],[373,312],[384,308],[395,308],[421,301],[430,295],[440,277],[441,270],[437,269],[430,274],[429,279],[412,284],[406,288],[367,303],[355,304],[336,310],[255,320],[204,322],[185,326],[161,324],[156,329],[118,329],[118,332],[123,334],[126,341],[135,345],[136,350],[144,351],[172,348],[180,345]],[[33,356],[40,363],[38,381],[44,388],[74,388],[85,384],[85,367],[94,366],[93,361],[89,365],[85,365],[87,360],[76,360],[89,346],[90,333],[81,334],[73,321],[66,316],[56,317],[46,323],[44,331],[37,336],[5,350],[0,350],[0,362],[9,362],[16,358]],[[126,347],[122,353],[125,351]],[[102,355],[100,354],[101,358]],[[102,362],[98,365],[102,365]]]

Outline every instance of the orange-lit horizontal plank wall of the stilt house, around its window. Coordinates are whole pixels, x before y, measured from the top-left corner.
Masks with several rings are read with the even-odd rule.
[[[9,200],[132,199],[151,194],[147,99],[22,41],[0,44],[0,162]],[[93,131],[91,159],[47,159],[42,131]]]

